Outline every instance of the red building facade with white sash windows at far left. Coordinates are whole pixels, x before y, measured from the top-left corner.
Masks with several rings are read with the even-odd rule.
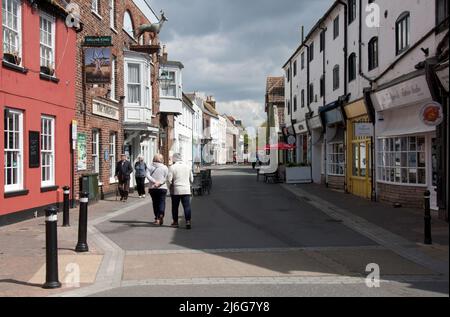
[[[42,214],[71,184],[77,52],[59,1],[1,1],[0,225]]]

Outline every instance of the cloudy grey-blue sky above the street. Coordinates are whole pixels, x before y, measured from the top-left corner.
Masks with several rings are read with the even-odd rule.
[[[185,65],[186,92],[214,95],[220,112],[246,126],[265,117],[267,76],[281,67],[332,0],[147,0],[169,21],[161,31],[169,59]]]

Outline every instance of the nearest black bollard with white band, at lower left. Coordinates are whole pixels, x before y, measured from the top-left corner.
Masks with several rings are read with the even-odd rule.
[[[60,288],[58,278],[58,209],[49,207],[45,210],[45,284],[43,288]]]

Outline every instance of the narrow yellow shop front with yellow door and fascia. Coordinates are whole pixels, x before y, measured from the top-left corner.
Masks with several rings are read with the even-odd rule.
[[[372,198],[373,124],[370,123],[364,100],[344,107],[347,118],[347,192],[362,198]]]

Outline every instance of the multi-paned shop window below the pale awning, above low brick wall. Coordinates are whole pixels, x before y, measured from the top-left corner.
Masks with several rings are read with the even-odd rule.
[[[378,181],[426,185],[425,137],[398,137],[378,140]]]

